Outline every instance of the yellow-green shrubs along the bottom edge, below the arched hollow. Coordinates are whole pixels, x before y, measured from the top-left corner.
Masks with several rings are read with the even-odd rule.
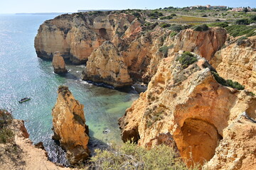
[[[112,146],[110,151],[95,149],[92,168],[108,169],[188,169],[171,147],[159,145],[150,150],[127,142],[122,147]],[[190,169],[199,169],[195,166]]]

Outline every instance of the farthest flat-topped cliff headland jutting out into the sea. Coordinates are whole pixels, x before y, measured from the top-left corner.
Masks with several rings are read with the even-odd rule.
[[[73,13],[45,21],[38,29],[38,57],[51,59],[55,51],[75,64],[85,63],[92,51],[114,36],[132,37],[139,30],[135,16],[128,14]],[[134,22],[133,22],[134,21]],[[131,28],[129,28],[132,26]],[[135,27],[135,28],[134,28]],[[126,32],[127,30],[127,32]]]

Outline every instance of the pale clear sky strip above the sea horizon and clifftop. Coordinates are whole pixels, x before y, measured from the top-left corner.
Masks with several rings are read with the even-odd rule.
[[[78,9],[152,9],[206,4],[255,8],[256,0],[0,0],[0,13],[76,12]]]

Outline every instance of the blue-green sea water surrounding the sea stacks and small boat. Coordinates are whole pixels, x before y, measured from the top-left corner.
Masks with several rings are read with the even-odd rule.
[[[33,143],[43,142],[49,159],[66,164],[63,150],[53,142],[51,109],[55,105],[59,85],[68,86],[85,108],[89,125],[90,147],[104,147],[108,142],[121,144],[118,118],[138,94],[94,86],[82,81],[84,65],[67,64],[68,74],[53,73],[50,61],[36,56],[33,40],[43,21],[53,15],[0,15],[0,108],[12,112],[14,118],[25,120]],[[31,101],[18,103],[23,97]],[[103,133],[104,130],[110,130]]]

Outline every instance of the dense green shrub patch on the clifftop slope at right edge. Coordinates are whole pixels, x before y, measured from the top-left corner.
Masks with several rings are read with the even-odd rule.
[[[225,27],[228,33],[233,37],[245,35],[245,37],[251,37],[256,35],[256,26],[228,26]]]

